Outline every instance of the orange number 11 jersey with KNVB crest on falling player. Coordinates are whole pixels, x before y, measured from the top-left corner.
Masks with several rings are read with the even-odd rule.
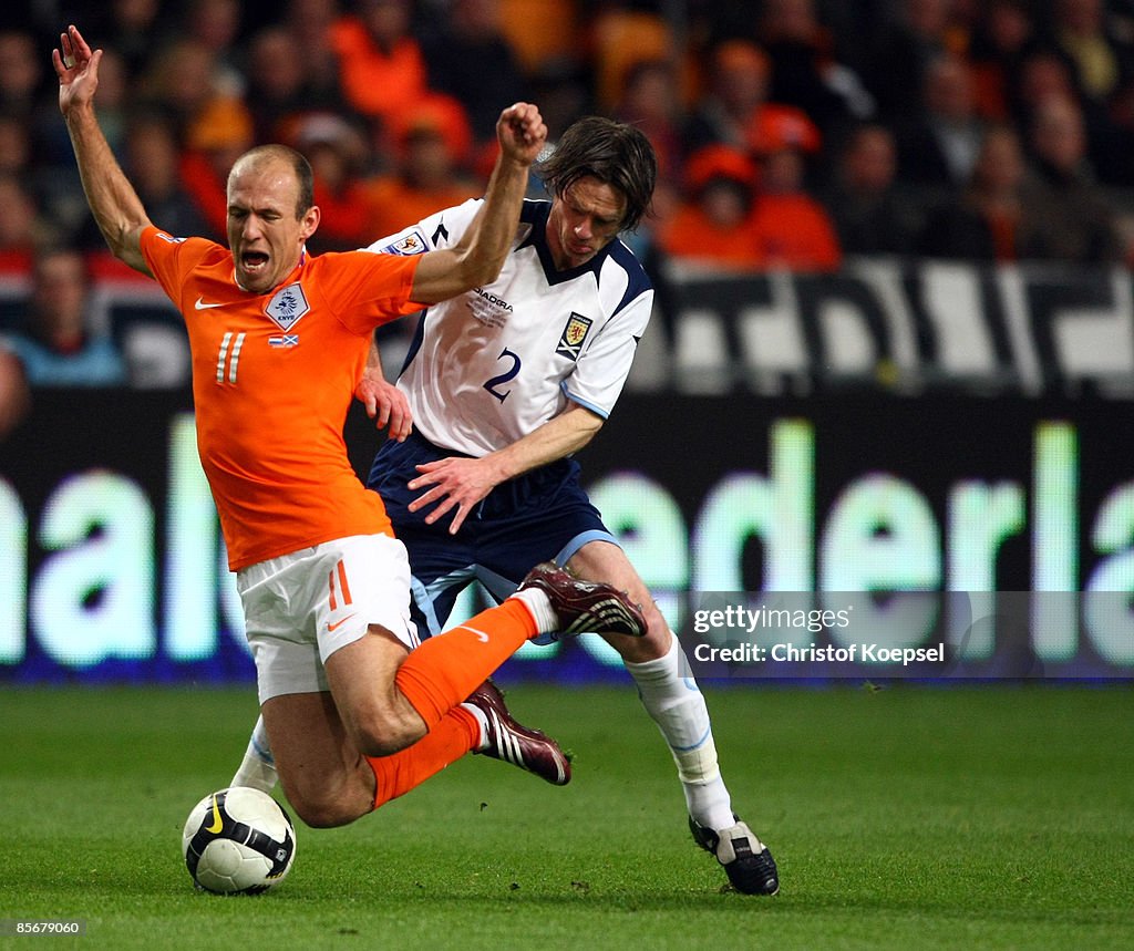
[[[305,254],[257,295],[237,286],[231,252],[204,238],[150,227],[142,254],[188,330],[197,450],[229,568],[392,534],[350,466],[342,424],[371,331],[420,309],[409,295],[421,258]]]

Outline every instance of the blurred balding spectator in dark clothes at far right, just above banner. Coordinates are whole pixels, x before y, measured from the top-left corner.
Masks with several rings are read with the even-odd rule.
[[[1064,97],[1044,101],[1029,130],[1029,145],[1039,182],[1026,201],[1036,221],[1021,256],[1077,263],[1118,260],[1114,218],[1086,158],[1078,104]]]

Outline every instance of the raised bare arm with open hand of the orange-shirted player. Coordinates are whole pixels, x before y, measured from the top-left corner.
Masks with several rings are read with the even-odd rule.
[[[142,229],[150,219],[134,187],[115,159],[94,114],[102,50],[87,45],[75,26],[59,36],[51,61],[59,77],[59,111],[67,122],[87,204],[115,257],[149,274],[142,257]]]

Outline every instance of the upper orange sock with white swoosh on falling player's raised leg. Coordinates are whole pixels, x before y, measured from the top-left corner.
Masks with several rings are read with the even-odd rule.
[[[481,611],[412,651],[398,668],[398,689],[421,714],[425,729],[432,730],[538,631],[522,601]]]

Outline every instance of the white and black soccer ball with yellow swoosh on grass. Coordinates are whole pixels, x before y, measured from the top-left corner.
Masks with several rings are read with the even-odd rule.
[[[284,881],[295,860],[295,827],[266,792],[243,786],[210,792],[193,807],[181,854],[198,888],[259,894]]]

